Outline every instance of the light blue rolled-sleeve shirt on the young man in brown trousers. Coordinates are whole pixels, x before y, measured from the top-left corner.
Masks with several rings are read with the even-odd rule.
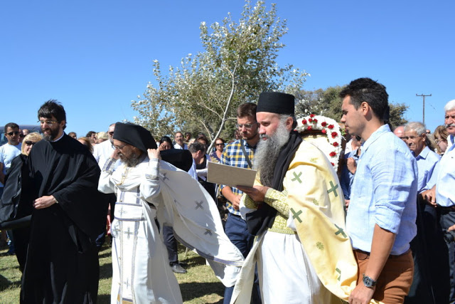
[[[388,125],[362,147],[346,216],[353,248],[370,252],[378,224],[396,234],[390,254],[405,253],[417,234],[417,162]]]

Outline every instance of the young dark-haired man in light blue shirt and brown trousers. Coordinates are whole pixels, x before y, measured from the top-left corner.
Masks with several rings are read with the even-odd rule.
[[[353,80],[340,93],[350,135],[365,143],[357,164],[346,229],[359,267],[349,303],[403,303],[414,263],[417,233],[417,163],[405,142],[385,124],[388,94],[370,78]]]

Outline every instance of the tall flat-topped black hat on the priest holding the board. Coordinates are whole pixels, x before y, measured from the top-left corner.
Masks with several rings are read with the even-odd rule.
[[[271,112],[294,116],[294,95],[280,92],[262,92],[256,112]]]

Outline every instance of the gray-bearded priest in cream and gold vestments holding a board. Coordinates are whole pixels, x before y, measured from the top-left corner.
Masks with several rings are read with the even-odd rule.
[[[321,150],[292,131],[293,95],[262,93],[256,117],[257,180],[238,189],[246,194],[240,211],[257,239],[231,303],[249,302],[255,261],[264,303],[339,303],[335,295],[347,300],[357,266],[336,172]]]

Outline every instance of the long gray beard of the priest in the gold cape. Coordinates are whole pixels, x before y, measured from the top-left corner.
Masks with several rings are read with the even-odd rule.
[[[277,165],[279,152],[289,141],[289,131],[284,122],[280,122],[274,135],[267,137],[261,135],[257,144],[253,169],[259,171],[259,180],[265,187],[272,187],[275,166]],[[262,140],[267,138],[267,140]]]

